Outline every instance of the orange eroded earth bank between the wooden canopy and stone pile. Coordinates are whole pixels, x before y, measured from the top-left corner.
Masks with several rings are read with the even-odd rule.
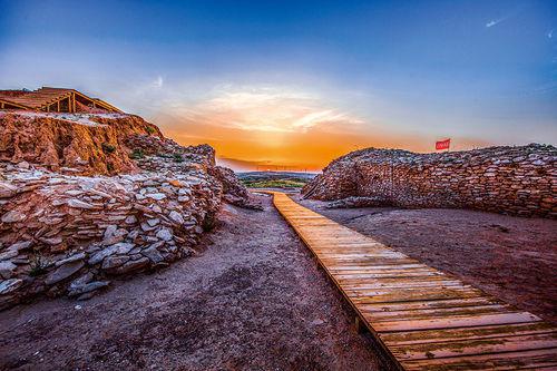
[[[158,127],[134,115],[0,113],[0,160],[81,175],[133,172],[131,135],[164,140]]]

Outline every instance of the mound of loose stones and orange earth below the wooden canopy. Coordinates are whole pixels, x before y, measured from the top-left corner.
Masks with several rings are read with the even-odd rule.
[[[212,147],[182,147],[136,116],[95,117],[104,128],[46,118],[37,128],[48,134],[43,148],[60,145],[49,136],[57,130],[71,135],[70,147],[85,147],[78,164],[68,162],[66,150],[48,164],[33,155],[29,146],[39,141],[31,128],[42,121],[3,118],[0,130],[16,143],[3,141],[0,162],[0,309],[39,294],[88,299],[115,276],[166,266],[194,253],[223,199],[248,203],[234,174],[215,166]],[[95,157],[105,139],[117,149]],[[105,174],[96,162],[107,156],[119,160],[118,174],[82,175]],[[226,180],[216,176],[222,172]]]

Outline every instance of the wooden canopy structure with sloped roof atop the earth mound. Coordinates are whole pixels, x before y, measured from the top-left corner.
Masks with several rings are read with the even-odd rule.
[[[37,90],[0,90],[0,109],[45,113],[123,113],[115,106],[75,89],[42,87]]]

